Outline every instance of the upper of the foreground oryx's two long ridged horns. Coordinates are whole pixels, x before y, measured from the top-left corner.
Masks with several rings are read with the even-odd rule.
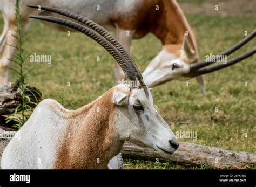
[[[38,8],[38,6],[35,6],[35,5],[27,5],[27,6],[30,8],[36,8],[36,9]],[[92,20],[90,20],[88,18],[78,15],[77,13],[73,13],[73,12],[69,12],[69,11],[57,9],[57,8],[51,8],[48,6],[40,6],[40,9],[45,10],[45,11],[54,12],[59,15],[72,18],[74,20],[77,20],[80,23],[85,24],[86,26],[90,27],[92,30],[95,30],[97,33],[99,33],[101,36],[103,36],[107,41],[109,41],[114,47],[116,47],[116,49],[124,56],[124,58],[127,60],[127,62],[132,67],[134,74],[136,75],[140,85],[146,86],[143,81],[142,74],[140,73],[137,65],[132,60],[130,54],[124,49],[124,47],[119,43],[119,41],[116,38],[114,38],[112,36],[112,34],[107,32],[102,26],[98,25],[95,22],[92,22]]]

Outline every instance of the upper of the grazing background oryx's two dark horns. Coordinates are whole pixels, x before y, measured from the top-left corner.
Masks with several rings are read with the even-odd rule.
[[[247,37],[239,41],[239,43],[235,44],[234,46],[230,47],[230,49],[219,53],[216,58],[221,60],[224,56],[228,56],[232,54],[233,52],[237,51],[240,49],[242,46],[248,43],[248,41],[252,40],[256,36],[256,30],[254,30],[251,34],[249,34]],[[198,63],[194,63],[190,65],[190,72],[193,72],[194,70],[198,70],[201,67],[208,66],[212,63],[213,59],[210,59],[208,61],[200,61]]]

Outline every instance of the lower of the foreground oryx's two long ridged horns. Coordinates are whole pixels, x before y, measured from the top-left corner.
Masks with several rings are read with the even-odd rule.
[[[136,81],[136,76],[133,72],[133,69],[131,68],[127,60],[123,57],[123,55],[116,49],[116,47],[110,44],[109,41],[107,41],[105,38],[100,36],[95,31],[91,30],[90,28],[80,25],[78,23],[72,22],[70,20],[65,20],[62,18],[56,18],[51,16],[29,16],[29,17],[34,19],[44,20],[46,22],[52,22],[52,23],[68,26],[71,29],[84,33],[86,36],[97,41],[98,44],[103,46],[104,49],[111,54],[111,56],[117,61],[117,63],[120,65],[120,67],[124,71],[126,78],[128,80]]]

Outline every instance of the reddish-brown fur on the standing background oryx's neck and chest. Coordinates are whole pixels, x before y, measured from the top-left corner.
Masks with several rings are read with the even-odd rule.
[[[159,10],[156,10],[157,5]],[[183,43],[184,33],[188,31],[188,42],[197,53],[194,33],[178,3],[174,0],[144,0],[132,15],[126,17],[116,15],[113,22],[122,29],[136,30],[137,38],[152,32],[163,45],[171,44],[172,46],[167,47],[168,51],[177,55]]]

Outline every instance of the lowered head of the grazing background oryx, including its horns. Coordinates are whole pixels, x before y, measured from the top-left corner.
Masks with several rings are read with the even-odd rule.
[[[187,80],[197,77],[199,86],[205,93],[203,80],[200,76],[231,66],[255,54],[256,48],[254,47],[251,51],[241,54],[238,57],[227,61],[224,60],[228,55],[240,49],[240,47],[244,46],[255,36],[256,30],[239,41],[239,43],[230,47],[230,49],[214,55],[210,59],[206,58],[204,61],[198,62],[198,55],[191,49],[187,37],[184,34],[182,45],[165,45],[163,50],[161,50],[157,57],[147,66],[146,70],[143,72],[145,83],[147,86],[153,87],[170,80]],[[216,61],[216,59],[218,59],[218,61]],[[206,67],[215,62],[218,64]]]

